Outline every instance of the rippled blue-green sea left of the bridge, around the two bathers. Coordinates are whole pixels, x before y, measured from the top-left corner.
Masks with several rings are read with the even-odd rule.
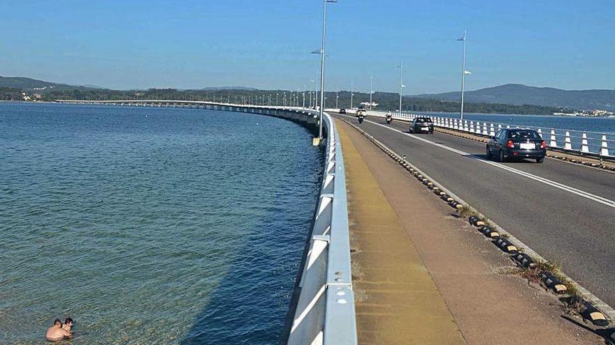
[[[0,344],[275,344],[322,164],[277,118],[0,103]]]

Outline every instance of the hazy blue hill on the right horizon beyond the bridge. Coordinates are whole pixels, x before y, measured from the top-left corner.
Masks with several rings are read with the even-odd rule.
[[[458,101],[459,91],[416,95],[417,98]],[[509,105],[543,105],[574,109],[615,110],[615,90],[561,90],[522,84],[505,84],[476,91],[466,91],[467,102]]]

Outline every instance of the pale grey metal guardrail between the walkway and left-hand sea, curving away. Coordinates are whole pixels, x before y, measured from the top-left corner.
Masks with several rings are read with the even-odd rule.
[[[299,107],[234,105],[178,100],[57,100],[87,105],[132,105],[147,107],[191,107],[277,116],[318,124],[318,112]],[[298,282],[298,299],[287,344],[356,345],[356,315],[346,177],[342,146],[333,119],[323,116],[326,131],[326,161],[310,233],[310,243]],[[291,306],[292,307],[292,306]]]

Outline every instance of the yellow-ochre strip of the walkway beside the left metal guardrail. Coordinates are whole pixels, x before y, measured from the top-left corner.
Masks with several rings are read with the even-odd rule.
[[[339,121],[338,121],[339,123]],[[344,153],[359,344],[465,344],[433,279],[363,158]]]

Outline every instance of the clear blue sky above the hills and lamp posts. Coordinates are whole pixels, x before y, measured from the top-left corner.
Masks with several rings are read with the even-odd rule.
[[[326,89],[455,91],[506,83],[615,89],[613,0],[338,0]],[[319,0],[2,1],[0,75],[117,89],[316,80]]]

